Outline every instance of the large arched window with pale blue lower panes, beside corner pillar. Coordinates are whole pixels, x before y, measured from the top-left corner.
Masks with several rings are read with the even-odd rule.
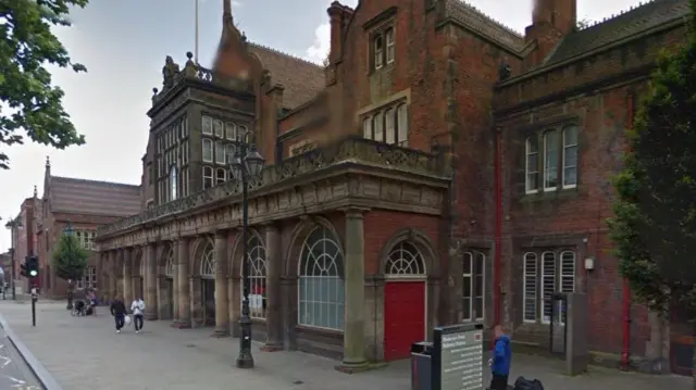
[[[298,324],[344,328],[344,254],[333,234],[316,227],[302,244],[299,261]]]

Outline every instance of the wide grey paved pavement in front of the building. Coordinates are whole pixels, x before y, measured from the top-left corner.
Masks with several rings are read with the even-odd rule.
[[[210,338],[212,329],[173,329],[166,323],[146,323],[136,335],[113,332],[112,319],[72,317],[64,303],[39,302],[38,326],[30,326],[28,304],[0,302],[0,313],[34,355],[66,390],[409,390],[408,362],[383,369],[347,375],[336,362],[300,352],[261,352],[257,367],[234,367],[236,339]],[[538,378],[546,390],[691,389],[691,380],[592,368],[581,377],[560,373],[561,363],[536,356],[514,356],[512,378]],[[0,387],[4,389],[4,387]]]

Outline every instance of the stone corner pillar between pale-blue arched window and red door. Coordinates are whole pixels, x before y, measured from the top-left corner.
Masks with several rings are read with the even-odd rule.
[[[336,368],[345,373],[366,369],[365,288],[364,288],[364,210],[346,210],[345,239],[345,328],[344,360]]]

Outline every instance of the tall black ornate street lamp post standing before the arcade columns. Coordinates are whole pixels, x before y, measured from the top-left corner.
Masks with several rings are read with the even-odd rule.
[[[241,328],[241,337],[239,338],[239,356],[237,356],[237,367],[252,368],[253,356],[251,355],[251,317],[249,309],[249,255],[248,255],[248,230],[249,230],[249,180],[258,177],[263,169],[263,156],[257,152],[253,143],[247,143],[249,134],[238,135],[238,139],[243,142],[236,143],[236,147],[229,150],[227,163],[229,164],[229,173],[235,180],[241,180],[241,277],[244,285],[244,300],[241,301],[241,316],[239,316],[239,326]]]

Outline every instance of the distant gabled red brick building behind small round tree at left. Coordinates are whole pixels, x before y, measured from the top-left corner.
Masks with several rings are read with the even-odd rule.
[[[36,249],[35,253],[39,257],[42,294],[53,298],[65,297],[67,284],[51,272],[51,253],[69,225],[89,253],[85,277],[77,280],[76,286],[99,289],[97,247],[94,241],[97,228],[140,211],[140,187],[53,176],[47,159],[44,196],[41,199],[36,199],[35,196],[34,199],[33,204],[37,204],[36,217],[29,226],[36,228],[24,231],[33,232],[30,241],[34,242],[32,248]]]

